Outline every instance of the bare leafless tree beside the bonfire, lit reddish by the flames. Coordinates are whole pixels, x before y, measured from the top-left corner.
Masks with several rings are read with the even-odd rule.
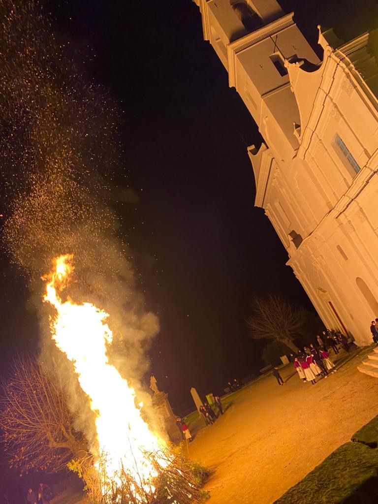
[[[31,357],[18,357],[2,384],[0,428],[10,466],[59,471],[87,453],[73,427],[67,395],[51,373]]]

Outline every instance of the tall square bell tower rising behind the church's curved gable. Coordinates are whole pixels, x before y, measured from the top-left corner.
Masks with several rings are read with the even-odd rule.
[[[288,165],[298,148],[299,111],[287,61],[319,64],[303,34],[276,0],[196,0],[209,40],[259,126],[272,157]]]

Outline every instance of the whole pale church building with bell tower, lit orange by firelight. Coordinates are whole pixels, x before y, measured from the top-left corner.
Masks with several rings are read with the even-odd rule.
[[[378,31],[323,59],[275,0],[196,0],[209,40],[259,126],[248,147],[262,207],[326,327],[371,343],[378,317]]]

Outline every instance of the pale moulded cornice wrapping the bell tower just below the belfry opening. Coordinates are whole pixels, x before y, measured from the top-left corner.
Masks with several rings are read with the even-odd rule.
[[[204,0],[201,0],[203,2]],[[252,33],[248,33],[244,37],[241,37],[234,42],[231,42],[227,45],[227,59],[228,59],[228,82],[229,86],[236,87],[236,75],[235,75],[235,60],[236,55],[247,49],[248,47],[264,40],[265,38],[271,37],[276,33],[288,28],[289,26],[294,24],[293,21],[294,13],[287,14],[272,23],[269,23],[266,26],[263,26],[259,30],[256,30]]]

